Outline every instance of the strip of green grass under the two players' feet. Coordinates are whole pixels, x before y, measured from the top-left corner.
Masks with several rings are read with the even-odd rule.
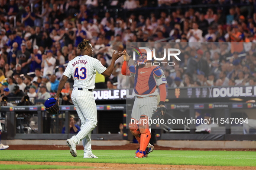
[[[78,157],[72,157],[69,150],[2,150],[0,161],[256,166],[253,151],[153,151],[149,157],[141,159],[133,158],[135,151],[94,150],[93,153],[99,158],[83,159],[81,150]]]

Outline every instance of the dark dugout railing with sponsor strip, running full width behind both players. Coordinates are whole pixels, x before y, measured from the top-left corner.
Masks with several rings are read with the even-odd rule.
[[[117,107],[118,106],[118,107]],[[122,106],[122,107],[120,107]],[[214,107],[213,107],[214,106]],[[215,108],[218,107],[218,108]],[[250,106],[250,107],[248,107]],[[126,108],[127,107],[127,108]],[[113,105],[97,105],[97,110],[98,111],[104,111],[104,110],[120,110],[123,111],[123,124],[125,125],[123,129],[123,135],[121,134],[97,134],[97,128],[94,129],[92,139],[93,140],[127,140],[128,139],[128,131],[129,129],[126,128],[127,125],[127,120],[129,120],[130,116],[130,107],[125,104],[113,104]],[[175,119],[173,115],[175,115],[175,112],[177,110],[189,110],[189,116],[188,119],[195,118],[195,110],[215,110],[216,113],[220,114],[220,110],[222,110],[221,114],[225,120],[231,116],[231,111],[234,112],[234,109],[241,110],[243,109],[249,109],[252,110],[253,107],[248,105],[248,103],[204,103],[204,104],[166,104],[166,107],[169,109],[168,113],[165,115],[164,119],[168,119],[168,116],[172,117],[172,119]],[[74,106],[61,106],[60,110],[62,113],[61,117],[58,116],[50,116],[49,114],[45,112],[45,107],[42,106],[19,106],[19,107],[1,107],[1,112],[6,112],[7,119],[6,119],[6,125],[7,125],[7,135],[6,139],[68,139],[70,138],[73,134],[69,134],[68,130],[65,131],[65,134],[58,134],[58,133],[53,133],[53,134],[43,134],[43,127],[49,126],[49,124],[44,124],[43,123],[43,118],[45,119],[50,119],[54,120],[52,123],[55,123],[55,126],[58,126],[58,122],[61,120],[64,122],[65,118],[65,127],[69,129],[69,112],[70,111],[75,111]],[[219,110],[219,111],[218,111]],[[36,134],[19,134],[16,133],[16,126],[17,126],[17,118],[16,114],[19,115],[19,113],[24,113],[24,112],[33,112],[33,114],[36,113],[37,115],[37,124],[38,124],[38,129]],[[63,114],[65,113],[65,115]],[[111,116],[111,114],[109,115]],[[51,126],[51,125],[50,125]],[[162,125],[160,125],[162,126]],[[233,127],[230,123],[224,122],[222,126],[224,130],[224,134],[196,134],[196,125],[195,124],[189,124],[188,126],[185,126],[185,130],[181,129],[176,129],[175,127],[172,127],[171,125],[165,125],[162,126],[162,129],[168,130],[167,133],[161,132],[161,129],[156,129],[157,130],[157,140],[163,139],[163,140],[255,140],[256,135],[242,135],[242,134],[232,134],[231,131]],[[62,126],[61,126],[62,128]],[[26,128],[25,128],[26,129]],[[174,130],[175,129],[175,130]],[[170,134],[172,132],[178,133],[178,134]],[[184,132],[186,134],[184,134]],[[5,132],[4,132],[5,133]]]

